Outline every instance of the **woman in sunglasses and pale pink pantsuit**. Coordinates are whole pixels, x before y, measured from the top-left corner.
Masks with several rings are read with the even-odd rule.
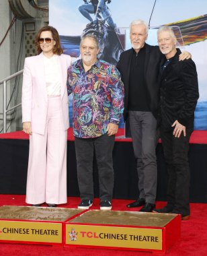
[[[26,203],[49,207],[67,203],[67,69],[58,32],[51,26],[36,35],[38,55],[25,59],[22,123],[30,134]]]

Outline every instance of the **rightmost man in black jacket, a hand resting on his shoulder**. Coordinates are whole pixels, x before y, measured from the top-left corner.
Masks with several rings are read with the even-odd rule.
[[[161,140],[168,174],[167,205],[159,213],[181,214],[190,218],[189,139],[194,129],[194,110],[198,100],[198,77],[192,59],[179,61],[176,38],[168,26],[157,32],[164,54],[160,65]]]

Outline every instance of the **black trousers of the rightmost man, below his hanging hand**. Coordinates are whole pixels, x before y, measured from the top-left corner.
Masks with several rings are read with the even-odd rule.
[[[165,163],[168,173],[167,204],[173,212],[190,215],[190,167],[188,162],[189,139],[193,129],[186,129],[186,136],[177,138],[173,131],[161,127]]]

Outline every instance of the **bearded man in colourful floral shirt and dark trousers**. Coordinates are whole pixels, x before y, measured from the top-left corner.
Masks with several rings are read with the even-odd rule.
[[[73,92],[73,132],[81,209],[93,203],[93,152],[99,172],[100,209],[112,209],[114,169],[112,150],[124,110],[124,85],[114,65],[97,59],[99,42],[93,34],[81,38],[81,59],[68,70]]]

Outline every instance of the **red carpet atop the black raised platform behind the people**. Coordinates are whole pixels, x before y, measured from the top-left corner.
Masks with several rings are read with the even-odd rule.
[[[29,135],[24,133],[24,131],[15,131],[13,133],[1,133],[0,139],[29,139]],[[73,128],[68,129],[68,140],[74,141]],[[118,129],[116,141],[128,142],[132,141],[132,139],[124,138],[124,129]],[[207,131],[194,131],[190,137],[190,143],[207,144]]]

